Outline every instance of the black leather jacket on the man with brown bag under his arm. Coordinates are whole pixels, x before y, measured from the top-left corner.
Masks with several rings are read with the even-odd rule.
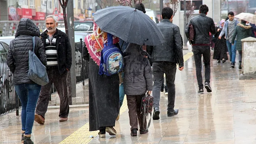
[[[187,38],[189,38],[189,25],[192,23],[195,38],[193,44],[209,44],[210,45],[210,33],[215,35],[218,31],[218,27],[215,27],[213,19],[207,17],[206,14],[199,14],[199,16],[193,17],[185,30]]]

